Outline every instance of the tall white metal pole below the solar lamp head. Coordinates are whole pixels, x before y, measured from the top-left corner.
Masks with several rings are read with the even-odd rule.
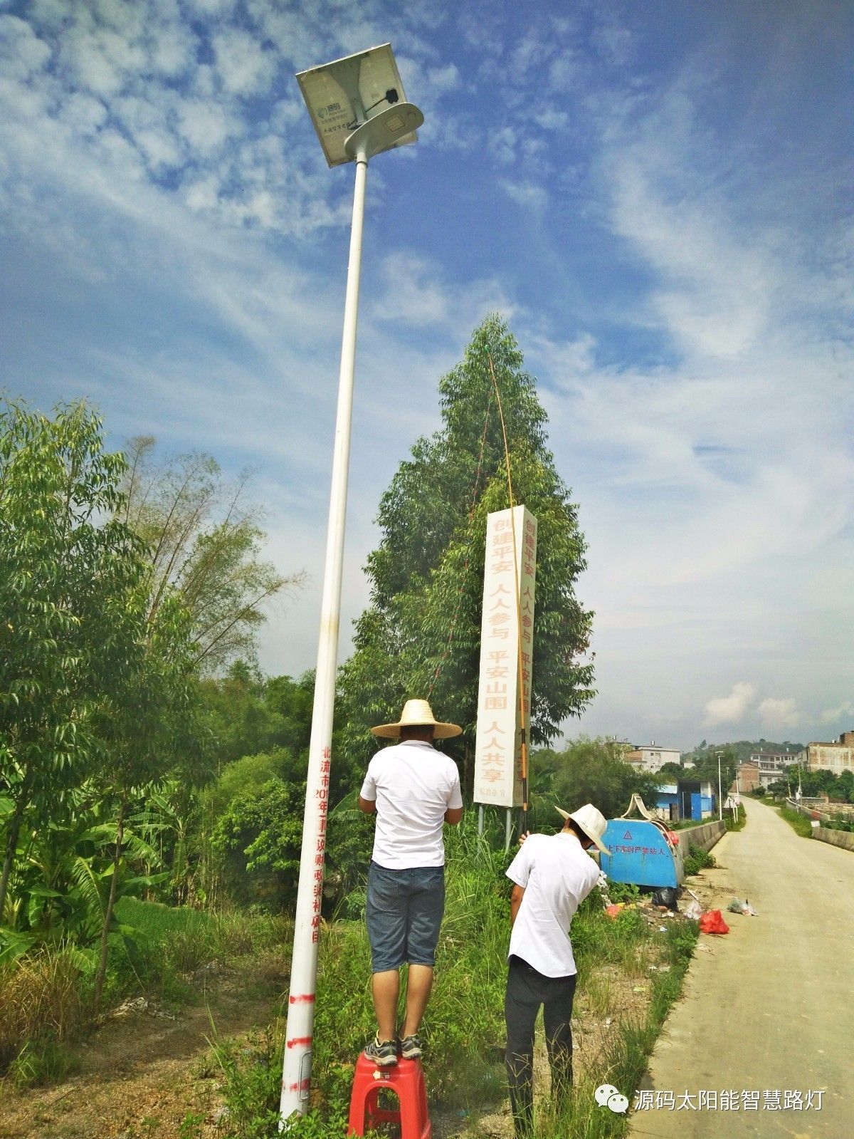
[[[318,975],[320,904],[323,895],[326,823],[329,806],[329,769],[335,711],[335,674],[338,664],[338,624],[340,583],[344,563],[344,523],[347,510],[347,470],[350,466],[350,425],[353,411],[353,370],[355,364],[359,276],[362,261],[364,185],[368,155],[360,150],[355,159],[353,227],[350,235],[347,292],[344,302],[344,335],[338,378],[338,412],[332,452],[332,486],[329,499],[323,598],[320,609],[318,669],[309,744],[309,770],[305,785],[303,845],[299,855],[299,885],[296,895],[294,951],[290,960],[290,994],[285,1031],[279,1129],[294,1112],[305,1113],[311,1087],[312,1033],[314,1029],[314,988]]]

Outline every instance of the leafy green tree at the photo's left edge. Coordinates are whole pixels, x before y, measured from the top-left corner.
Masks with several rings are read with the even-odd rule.
[[[117,516],[123,472],[84,404],[0,409],[0,919],[24,819],[56,820],[83,780],[92,712],[122,666],[118,601],[143,573]]]

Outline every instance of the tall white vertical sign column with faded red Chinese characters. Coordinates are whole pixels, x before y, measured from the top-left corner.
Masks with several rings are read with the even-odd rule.
[[[522,804],[522,729],[525,728],[527,739],[535,581],[536,518],[524,506],[514,507],[512,519],[509,509],[488,515],[477,689],[476,803]],[[519,685],[525,694],[524,723]]]

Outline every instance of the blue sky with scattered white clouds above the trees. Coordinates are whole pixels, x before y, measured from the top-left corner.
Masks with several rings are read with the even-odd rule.
[[[380,493],[491,311],[590,543],[578,730],[854,726],[854,9],[0,0],[0,383],[247,465],[314,663],[352,167],[294,73],[391,40],[368,175],[340,652]],[[438,710],[441,714],[441,710]]]

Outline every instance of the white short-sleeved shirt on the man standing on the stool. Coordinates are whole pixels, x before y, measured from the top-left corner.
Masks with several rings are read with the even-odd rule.
[[[384,747],[368,764],[360,795],[377,804],[375,862],[387,870],[445,865],[445,811],[462,806],[450,756],[422,739]]]

